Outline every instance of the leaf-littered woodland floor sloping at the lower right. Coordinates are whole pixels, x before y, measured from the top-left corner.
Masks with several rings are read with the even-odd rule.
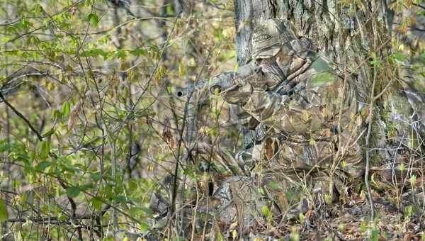
[[[307,212],[303,223],[290,222],[285,225],[288,228],[278,231],[280,234],[269,235],[283,236],[280,240],[297,240],[296,236],[300,240],[425,240],[425,220],[421,215],[424,212],[417,210],[417,206],[416,210],[410,209],[415,206],[411,206],[408,196],[411,195],[402,197],[400,206],[404,208],[375,196],[376,218],[372,227],[368,226],[367,199],[356,195],[350,203],[335,204],[322,213]]]

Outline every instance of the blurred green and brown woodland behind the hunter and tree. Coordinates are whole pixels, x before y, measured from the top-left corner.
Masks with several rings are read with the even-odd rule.
[[[364,8],[361,0],[340,2],[354,13]],[[137,240],[156,230],[159,240],[176,240],[179,225],[170,224],[161,202],[179,203],[177,212],[196,208],[211,191],[208,159],[233,156],[242,146],[220,96],[202,108],[175,96],[237,68],[234,2],[0,0],[0,6],[1,239]],[[409,84],[424,93],[425,4],[397,0],[389,8],[392,60],[414,65],[418,78]],[[376,56],[367,55],[378,67]],[[205,143],[205,150],[198,147],[203,162],[189,158],[194,143]],[[409,186],[412,172],[402,178]],[[367,205],[361,188],[356,195]],[[421,231],[409,226],[424,211],[418,203],[395,211],[395,230]],[[182,216],[171,218],[191,223]],[[304,217],[294,225],[285,230],[297,240]],[[355,227],[360,237],[378,237],[367,218]],[[229,240],[237,240],[237,229],[229,230]],[[220,228],[202,232],[225,239]]]

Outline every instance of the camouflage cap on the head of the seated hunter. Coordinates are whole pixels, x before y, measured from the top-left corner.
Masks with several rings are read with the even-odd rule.
[[[295,28],[285,19],[268,19],[257,26],[252,35],[252,58],[265,59],[276,55],[280,48],[297,39]]]

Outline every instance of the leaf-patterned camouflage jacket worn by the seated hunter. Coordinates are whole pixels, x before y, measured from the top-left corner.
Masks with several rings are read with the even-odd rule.
[[[268,63],[270,60],[262,60],[259,64]],[[357,144],[361,119],[356,115],[356,91],[349,79],[344,84],[344,79],[317,57],[305,72],[283,86],[283,94],[271,91],[280,82],[273,74],[259,72],[256,81],[222,95],[228,103],[242,108],[251,126],[262,123],[266,137],[278,140],[273,153],[283,169],[308,171],[337,164],[349,176],[361,175]]]

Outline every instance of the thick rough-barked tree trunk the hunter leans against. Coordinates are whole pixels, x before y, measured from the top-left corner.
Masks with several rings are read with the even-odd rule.
[[[385,0],[343,2],[236,0],[237,60],[240,66],[249,58],[251,35],[258,23],[268,18],[291,21],[297,34],[310,38],[341,77],[350,77],[354,82],[365,123],[359,142],[365,152],[380,148],[370,152],[371,164],[380,165],[394,157],[390,147],[400,142],[408,145],[414,136],[410,125],[413,109],[402,84],[395,81],[399,73],[390,62],[391,40],[395,38],[390,36],[387,16],[392,15]],[[373,117],[369,138],[368,116]]]

